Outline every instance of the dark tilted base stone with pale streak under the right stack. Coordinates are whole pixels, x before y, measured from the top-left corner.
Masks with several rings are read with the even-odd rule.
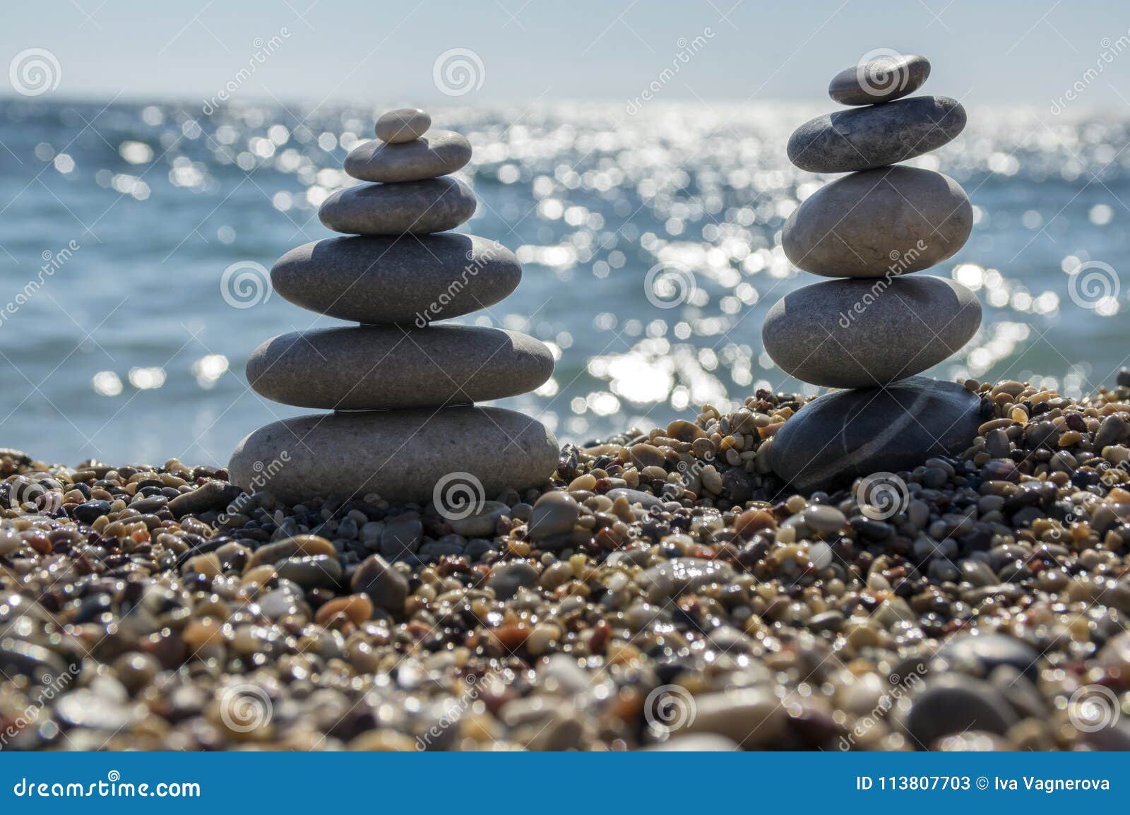
[[[981,397],[955,382],[912,376],[886,388],[827,393],[773,435],[770,465],[800,492],[956,456],[984,422]]]

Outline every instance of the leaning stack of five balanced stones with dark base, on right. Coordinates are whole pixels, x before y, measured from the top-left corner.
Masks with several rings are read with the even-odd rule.
[[[849,68],[828,93],[853,110],[818,116],[789,139],[798,167],[851,173],[809,197],[782,232],[797,267],[837,279],[785,295],[762,331],[765,350],[789,374],[850,389],[809,402],[771,442],[773,470],[800,491],[955,454],[981,423],[975,393],[914,375],[959,350],[981,326],[968,288],[912,276],[957,252],[973,226],[957,182],[896,164],[965,127],[956,99],[902,98],[929,73],[924,58],[910,55]]]

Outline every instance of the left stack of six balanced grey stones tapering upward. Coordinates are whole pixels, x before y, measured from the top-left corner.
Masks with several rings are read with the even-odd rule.
[[[553,373],[549,349],[514,331],[431,324],[499,302],[522,276],[501,244],[447,232],[477,206],[449,175],[471,146],[431,123],[412,109],[382,115],[379,138],[345,162],[349,175],[372,183],[336,192],[319,211],[350,237],[298,246],[271,269],[286,300],[359,324],[285,333],[252,354],[257,392],[333,413],[244,439],[229,470],[249,492],[288,503],[372,494],[424,503],[455,478],[463,497],[481,498],[538,486],[557,466],[557,441],[539,422],[473,406],[538,388]]]

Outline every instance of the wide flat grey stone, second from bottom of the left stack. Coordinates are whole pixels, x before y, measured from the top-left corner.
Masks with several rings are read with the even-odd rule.
[[[386,410],[504,399],[553,371],[549,348],[516,331],[357,326],[267,340],[247,361],[247,382],[284,405]]]

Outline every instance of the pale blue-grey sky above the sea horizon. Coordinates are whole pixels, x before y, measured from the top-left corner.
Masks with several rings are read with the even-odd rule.
[[[889,47],[928,55],[928,89],[967,104],[1048,105],[1078,80],[1080,105],[1130,112],[1124,2],[40,0],[6,7],[0,60],[50,51],[56,98],[209,98],[247,67],[257,38],[284,27],[288,36],[234,96],[623,102],[671,67],[680,38],[709,28],[663,99],[815,101],[836,70]],[[458,98],[433,81],[436,58],[451,49],[473,51],[483,66],[481,87]],[[1102,73],[1084,80],[1099,63]],[[10,81],[0,94],[11,94]]]

